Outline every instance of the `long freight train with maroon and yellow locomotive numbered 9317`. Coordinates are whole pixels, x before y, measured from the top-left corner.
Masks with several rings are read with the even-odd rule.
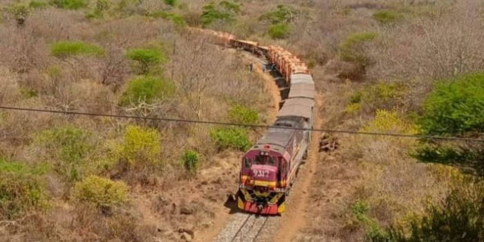
[[[241,159],[236,194],[240,210],[283,214],[299,167],[308,156],[316,95],[313,76],[301,59],[279,46],[261,46],[256,41],[236,39],[214,30],[198,31],[210,35],[216,44],[265,56],[286,80],[289,93],[276,121]]]

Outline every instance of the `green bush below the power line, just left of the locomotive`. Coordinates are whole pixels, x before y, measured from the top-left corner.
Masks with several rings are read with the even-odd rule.
[[[239,149],[246,151],[252,146],[248,131],[239,127],[218,128],[210,132],[210,137],[215,140],[220,149]]]

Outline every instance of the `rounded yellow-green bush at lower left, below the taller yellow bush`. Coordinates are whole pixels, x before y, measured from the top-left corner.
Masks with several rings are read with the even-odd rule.
[[[128,186],[99,176],[88,176],[76,183],[72,197],[75,201],[90,203],[103,212],[127,203]]]

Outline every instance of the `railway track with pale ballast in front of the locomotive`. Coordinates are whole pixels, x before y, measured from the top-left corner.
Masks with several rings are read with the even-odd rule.
[[[234,219],[225,226],[221,234],[218,234],[214,242],[260,241],[264,227],[270,218],[270,216],[257,214],[234,214]]]

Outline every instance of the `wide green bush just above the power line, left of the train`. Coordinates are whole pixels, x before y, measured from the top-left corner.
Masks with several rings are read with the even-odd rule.
[[[173,95],[175,86],[171,82],[158,77],[138,77],[128,83],[121,104],[139,104],[145,102],[153,104]]]

